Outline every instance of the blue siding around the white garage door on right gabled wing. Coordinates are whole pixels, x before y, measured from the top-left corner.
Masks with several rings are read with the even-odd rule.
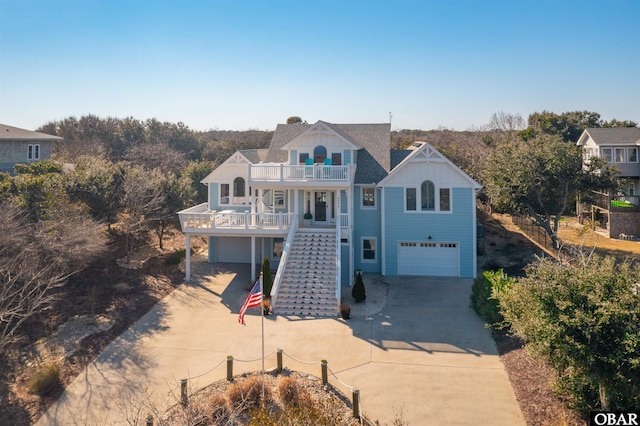
[[[459,244],[460,276],[465,278],[476,276],[475,221],[472,220],[475,217],[473,188],[452,188],[453,211],[451,213],[405,213],[404,187],[387,187],[384,191],[385,273],[387,275],[399,273],[398,243],[421,241]]]

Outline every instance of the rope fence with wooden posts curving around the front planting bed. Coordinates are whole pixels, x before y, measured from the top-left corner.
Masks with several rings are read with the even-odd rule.
[[[278,348],[276,351],[273,351],[267,355],[264,356],[264,360],[266,360],[267,358],[270,358],[273,354],[276,354],[276,371],[278,373],[281,373],[284,369],[284,362],[283,362],[283,355],[286,355],[287,358],[291,361],[294,361],[296,363],[299,364],[303,364],[303,365],[319,365],[320,366],[320,379],[322,380],[322,384],[324,386],[333,386],[334,388],[338,389],[338,386],[329,383],[329,373],[331,374],[331,377],[333,379],[335,379],[335,383],[339,384],[341,386],[343,386],[344,388],[346,388],[348,391],[351,392],[351,406],[352,406],[352,412],[353,412],[353,417],[356,419],[360,419],[361,420],[361,415],[360,415],[360,407],[361,407],[361,401],[360,401],[360,391],[358,388],[355,388],[345,382],[343,382],[342,380],[340,380],[340,378],[336,375],[335,372],[333,372],[332,370],[329,369],[329,363],[327,360],[320,360],[320,361],[304,361],[304,360],[300,360],[297,359],[295,357],[293,357],[292,355],[288,354],[287,352],[285,352],[283,349]],[[237,359],[234,358],[232,355],[228,355],[225,359],[223,359],[222,361],[220,361],[219,363],[217,363],[214,367],[210,368],[209,370],[195,375],[195,376],[188,376],[187,378],[182,378],[180,379],[180,382],[177,383],[168,393],[168,397],[167,399],[162,403],[162,405],[160,406],[160,409],[156,411],[157,414],[161,414],[166,408],[169,407],[169,401],[171,399],[178,400],[180,402],[180,404],[183,407],[186,407],[189,404],[189,392],[188,392],[188,384],[190,381],[196,380],[196,379],[200,379],[208,374],[213,373],[214,371],[216,371],[218,368],[220,368],[220,366],[224,363],[226,363],[226,379],[228,381],[233,381],[234,379],[234,362],[238,362],[238,363],[255,363],[258,361],[262,361],[263,358],[256,358],[256,359],[251,359],[251,360],[242,360],[242,359]],[[266,370],[265,370],[266,372]],[[317,377],[317,376],[316,376]],[[178,397],[178,395],[176,394],[176,391],[178,390],[178,388],[180,388],[180,395]],[[195,392],[199,391],[200,389],[197,389]],[[343,392],[344,393],[344,392]],[[347,393],[345,393],[345,395],[347,395]],[[153,414],[149,414],[146,418],[146,425],[147,426],[153,426],[154,422],[154,415]]]

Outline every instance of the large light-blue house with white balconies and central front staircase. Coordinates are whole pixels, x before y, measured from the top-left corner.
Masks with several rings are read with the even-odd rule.
[[[280,124],[202,181],[209,201],[179,213],[187,247],[208,236],[209,262],[254,279],[268,257],[281,313],[335,315],[358,271],[474,278],[480,185],[427,143],[390,147],[389,124]]]

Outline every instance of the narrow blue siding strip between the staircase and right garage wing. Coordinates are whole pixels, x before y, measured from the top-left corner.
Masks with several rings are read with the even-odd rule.
[[[354,259],[353,263],[355,269],[362,269],[364,272],[382,272],[382,235],[380,232],[380,191],[376,189],[376,208],[375,209],[362,209],[362,188],[359,186],[354,187],[353,191],[353,244],[354,247]],[[377,239],[376,247],[376,261],[375,262],[363,262],[362,261],[362,238],[374,237]]]

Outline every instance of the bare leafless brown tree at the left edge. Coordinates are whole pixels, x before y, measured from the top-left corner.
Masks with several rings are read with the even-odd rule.
[[[70,275],[105,247],[95,221],[73,209],[68,213],[33,224],[23,209],[0,205],[0,351],[26,320],[51,307]]]

